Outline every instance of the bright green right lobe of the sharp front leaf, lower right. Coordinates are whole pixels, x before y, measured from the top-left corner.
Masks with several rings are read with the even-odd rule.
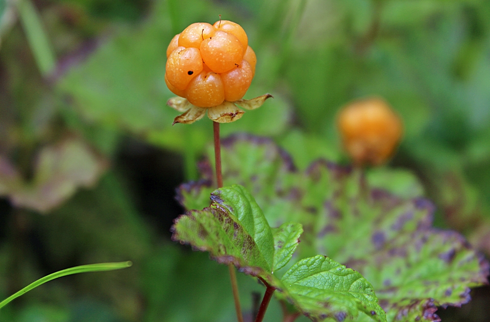
[[[326,256],[300,260],[284,274],[282,282],[313,321],[354,319],[359,312],[374,321],[386,321],[371,284],[360,273]]]

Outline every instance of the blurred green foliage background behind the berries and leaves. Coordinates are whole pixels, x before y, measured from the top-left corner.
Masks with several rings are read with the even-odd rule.
[[[233,319],[226,267],[168,232],[182,211],[173,187],[197,178],[212,131],[209,120],[171,126],[165,51],[175,33],[219,14],[245,28],[258,57],[245,98],[274,95],[224,124],[223,136],[271,136],[302,169],[317,157],[346,163],[337,111],[381,96],[405,136],[389,165],[398,170],[373,169],[371,180],[408,197],[424,192],[439,226],[490,253],[488,1],[12,3],[0,0],[0,298],[69,266],[134,266],[50,282],[2,309],[1,321]],[[67,170],[82,157],[85,167]],[[81,171],[93,179],[72,175]],[[247,295],[263,289],[239,277],[250,310]],[[273,302],[266,321],[279,311]],[[444,321],[465,314],[451,312]],[[479,312],[462,321],[488,319]]]

